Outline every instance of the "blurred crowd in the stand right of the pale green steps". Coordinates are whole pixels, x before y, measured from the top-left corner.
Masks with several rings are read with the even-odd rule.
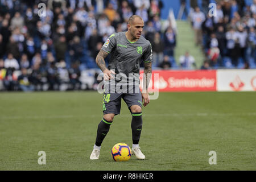
[[[201,9],[195,5],[190,13],[196,46],[202,46],[208,62],[204,65],[255,68],[256,0],[218,0],[216,12],[209,13],[210,2],[203,1]]]

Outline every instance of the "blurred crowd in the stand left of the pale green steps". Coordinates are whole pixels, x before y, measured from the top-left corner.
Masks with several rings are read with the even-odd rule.
[[[46,5],[43,13],[39,3]],[[133,14],[144,20],[153,66],[167,58],[170,62],[176,36],[171,27],[163,30],[162,7],[161,0],[0,0],[2,87],[59,90],[66,84],[66,89],[81,89],[81,72],[97,68],[95,58],[105,40],[126,31]]]

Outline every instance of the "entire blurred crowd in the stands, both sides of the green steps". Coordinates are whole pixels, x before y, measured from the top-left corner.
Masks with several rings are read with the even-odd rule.
[[[174,59],[177,31],[171,21],[163,26],[164,2],[0,0],[0,90],[96,89],[97,53],[109,35],[127,30],[133,14],[144,20],[153,68],[192,68],[195,59],[189,52]],[[181,6],[186,2],[180,0]],[[191,0],[184,13],[195,31],[195,45],[205,53],[201,69],[253,68],[256,0],[214,1],[217,16],[208,15],[210,1],[201,1],[200,7],[198,2]],[[46,5],[46,16],[39,16],[39,3]]]

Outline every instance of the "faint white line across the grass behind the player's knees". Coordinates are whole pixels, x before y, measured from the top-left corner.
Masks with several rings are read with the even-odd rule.
[[[120,114],[121,117],[131,117],[131,114]],[[144,117],[229,117],[229,116],[256,116],[256,113],[163,113],[163,114],[147,114]],[[31,116],[3,116],[2,119],[68,119],[68,118],[97,118],[101,115],[31,115]]]

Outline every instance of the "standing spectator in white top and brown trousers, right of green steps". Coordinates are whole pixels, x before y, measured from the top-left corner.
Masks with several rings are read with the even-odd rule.
[[[196,46],[199,46],[202,44],[203,40],[203,35],[202,35],[202,24],[205,20],[205,15],[203,12],[200,11],[199,7],[195,8],[195,13],[192,16],[192,23],[193,23],[193,28],[195,30],[196,34]]]

